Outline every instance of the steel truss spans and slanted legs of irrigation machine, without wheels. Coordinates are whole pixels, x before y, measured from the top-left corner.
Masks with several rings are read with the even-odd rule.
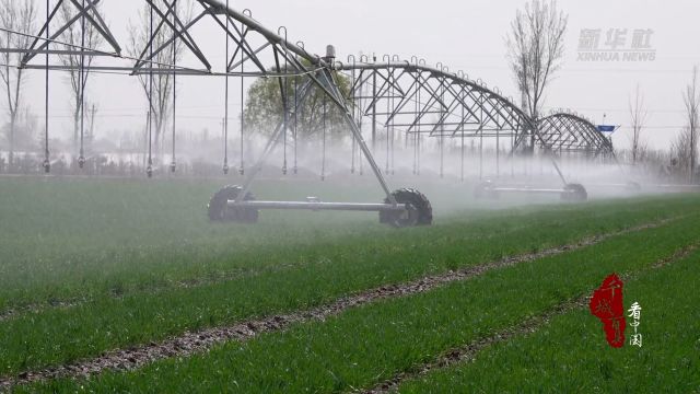
[[[109,65],[85,68],[81,62],[80,70],[122,72],[132,76],[145,74],[150,79],[162,73],[173,74],[173,77],[225,77],[226,103],[229,100],[229,79],[232,77],[279,79],[282,120],[266,144],[260,162],[248,174],[244,192],[247,192],[265,159],[279,143],[284,147],[283,172],[287,172],[287,136],[289,132],[295,135],[295,125],[292,125],[290,119],[296,118],[296,111],[311,89],[323,91],[343,114],[347,127],[352,135],[353,150],[359,147],[359,151],[370,164],[392,204],[396,204],[396,201],[384,178],[384,174],[393,171],[393,165],[389,164],[389,146],[387,143],[387,163],[383,173],[374,160],[372,150],[363,139],[363,118],[371,118],[373,148],[375,148],[378,128],[385,128],[387,136],[404,132],[407,142],[415,141],[416,154],[420,153],[422,137],[438,138],[441,151],[441,174],[443,173],[444,141],[446,139],[460,139],[464,151],[465,138],[479,138],[481,141],[483,138],[495,138],[497,154],[500,154],[500,144],[504,140],[508,141],[505,142],[506,147],[510,147],[510,155],[517,150],[534,150],[536,147],[544,150],[546,154],[562,151],[591,151],[600,154],[612,151],[610,141],[602,136],[590,121],[579,116],[557,114],[540,120],[530,119],[513,103],[512,99],[506,99],[497,89],[488,89],[480,80],[470,80],[463,72],[450,72],[441,63],[434,68],[429,67],[418,58],[401,61],[397,57],[385,56],[382,62],[376,62],[376,59],[370,61],[366,57],[360,58],[359,61],[354,57],[350,57],[348,62],[342,63],[335,60],[335,50],[325,57],[312,55],[306,51],[302,43],[289,42],[284,27],[280,27],[277,32],[270,31],[255,21],[249,11],[238,12],[231,9],[229,1],[195,0],[201,5],[200,12],[190,20],[184,21],[182,15],[177,13],[177,0],[144,0],[151,11],[150,38],[139,56],[133,58],[121,54],[117,40],[97,12],[96,7],[101,0],[54,1],[56,4],[49,13],[49,1],[47,0],[46,22],[39,33],[34,36],[35,39],[28,49],[0,49],[24,53],[19,67],[44,69],[47,72],[48,70],[71,70],[68,67],[49,63],[50,55],[60,54],[126,59],[132,61],[132,66]],[[49,26],[57,11],[66,1],[70,1],[77,8],[78,14],[49,35]],[[225,38],[226,62],[223,71],[214,71],[209,57],[194,37],[192,28],[205,20],[221,27],[222,38]],[[51,46],[66,46],[58,38],[74,23],[82,23],[83,26],[85,23],[93,25],[109,44],[110,50],[85,48],[84,46],[68,46],[67,49],[51,48]],[[168,38],[156,44],[155,37],[159,34],[166,34]],[[207,37],[207,39],[211,39],[211,37]],[[177,65],[174,48],[178,44],[194,56],[197,65]],[[164,63],[155,61],[159,54],[171,50],[173,51],[172,61]],[[32,63],[37,55],[46,55],[45,65]],[[266,66],[270,63],[271,67]],[[72,68],[72,70],[74,69]],[[337,81],[334,80],[334,72],[351,74],[351,89],[347,94],[340,91]],[[289,86],[283,82],[285,78],[301,80],[301,85],[304,88],[290,95]],[[301,97],[299,97],[299,93],[301,93]],[[294,103],[291,102],[291,96],[293,96]],[[226,128],[228,118],[226,105]],[[535,147],[528,146],[533,143],[530,141],[534,141]],[[415,172],[419,173],[420,158],[417,162]],[[553,164],[556,166],[556,162]],[[243,173],[243,166],[242,162],[241,173]],[[354,154],[352,166],[354,171]],[[224,159],[224,169],[228,169],[228,158]],[[245,193],[242,193],[240,198],[243,196]]]

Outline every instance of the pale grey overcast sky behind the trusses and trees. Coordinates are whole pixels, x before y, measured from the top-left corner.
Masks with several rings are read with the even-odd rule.
[[[51,0],[55,3],[55,0]],[[508,67],[504,37],[515,11],[524,0],[266,0],[231,1],[237,10],[250,9],[253,16],[271,30],[284,25],[291,42],[303,40],[310,51],[323,54],[334,44],[340,59],[350,54],[376,53],[410,58],[416,55],[429,65],[442,62],[451,71],[464,70],[505,95],[516,96]],[[129,21],[137,21],[141,0],[103,0],[103,13],[122,46],[128,42]],[[43,1],[39,5],[44,14]],[[198,11],[198,5],[195,5]],[[559,1],[569,14],[567,56],[547,94],[546,108],[573,108],[590,118],[622,125],[615,142],[628,143],[629,100],[640,85],[649,108],[645,138],[665,149],[685,124],[681,91],[689,82],[693,65],[700,63],[700,3],[697,0],[588,0]],[[580,61],[582,30],[600,30],[604,47],[608,30],[627,30],[625,44],[631,45],[634,30],[651,30],[649,44],[656,50],[654,61]],[[205,48],[221,53],[223,35],[214,27],[197,31],[195,39]],[[214,65],[223,57],[212,55]],[[32,109],[43,114],[43,78],[31,71],[28,94]],[[180,132],[220,130],[223,88],[219,78],[182,79],[178,86]],[[70,106],[65,77],[51,77],[51,127],[68,135]],[[235,85],[234,85],[235,88]],[[122,76],[96,76],[88,94],[100,107],[97,134],[115,136],[122,130],[143,128],[145,99],[138,82]],[[240,112],[240,99],[231,109]],[[236,116],[237,117],[237,116]],[[43,123],[43,119],[40,120]]]

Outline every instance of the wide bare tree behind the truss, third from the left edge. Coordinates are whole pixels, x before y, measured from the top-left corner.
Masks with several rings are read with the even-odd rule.
[[[191,7],[183,4],[185,1],[178,1],[177,3],[177,15],[184,23],[189,20],[189,15],[191,13]],[[159,15],[153,15],[153,24],[158,26],[160,22]],[[139,23],[137,25],[129,24],[129,45],[127,51],[132,57],[140,57],[141,53],[147,49],[149,42],[151,39],[151,9],[147,4],[139,12]],[[154,32],[155,33],[155,32]],[[173,36],[173,31],[164,25],[153,37],[153,42],[151,45],[153,49],[158,49],[164,46],[170,42]],[[175,45],[175,58],[179,61],[183,56],[183,42],[177,40]],[[150,55],[150,51],[147,50],[147,58]],[[170,66],[173,62],[173,48],[170,45],[170,48],[165,50],[161,50],[153,56],[151,62],[147,62],[145,68],[153,67],[155,69],[171,70]],[[147,101],[149,101],[149,93],[151,91],[151,78],[148,72],[138,73],[139,83],[143,89],[143,93],[145,94]],[[151,106],[151,120],[153,123],[153,150],[155,152],[155,157],[159,157],[159,152],[161,152],[161,137],[163,136],[163,129],[166,124],[166,119],[172,111],[172,99],[173,99],[173,74],[171,72],[154,72],[153,73],[153,95],[151,97],[150,106]]]

